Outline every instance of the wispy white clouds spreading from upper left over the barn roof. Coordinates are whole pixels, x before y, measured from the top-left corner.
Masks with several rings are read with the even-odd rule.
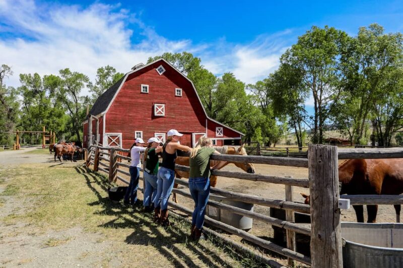
[[[195,45],[186,39],[168,40],[137,14],[99,2],[83,8],[0,0],[0,20],[5,25],[0,28],[0,64],[12,67],[15,74],[6,83],[13,86],[20,84],[19,73],[57,74],[62,68],[70,68],[94,80],[100,66],[109,64],[127,72],[139,62],[146,63],[150,56],[181,51],[199,56],[217,75],[233,72],[238,79],[254,83],[277,68],[291,37],[291,31],[284,31],[258,36],[242,45],[225,38]],[[133,36],[143,40],[132,44]]]

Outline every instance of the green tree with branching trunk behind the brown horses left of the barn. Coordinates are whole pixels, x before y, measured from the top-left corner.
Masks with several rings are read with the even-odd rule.
[[[80,93],[88,85],[89,78],[83,73],[72,72],[69,68],[60,70],[59,74],[57,100],[65,107],[70,117],[69,129],[73,138],[81,142],[81,123],[85,119],[85,107],[82,105],[83,97],[80,97]]]

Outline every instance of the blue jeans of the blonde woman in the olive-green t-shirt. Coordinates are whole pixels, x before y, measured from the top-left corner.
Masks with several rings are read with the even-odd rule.
[[[210,178],[189,178],[189,190],[194,200],[192,225],[196,225],[197,229],[201,229],[205,221],[206,206],[210,196]]]

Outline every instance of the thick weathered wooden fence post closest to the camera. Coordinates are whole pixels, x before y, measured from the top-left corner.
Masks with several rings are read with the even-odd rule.
[[[337,146],[308,147],[311,265],[343,267]]]

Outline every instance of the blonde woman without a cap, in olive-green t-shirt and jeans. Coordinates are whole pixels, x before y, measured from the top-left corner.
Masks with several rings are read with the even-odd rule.
[[[210,157],[214,153],[220,154],[213,148],[212,140],[206,137],[199,138],[197,146],[190,152],[189,190],[194,201],[190,237],[194,240],[204,239],[201,229],[210,196]],[[212,169],[219,169],[225,164],[220,161]]]

